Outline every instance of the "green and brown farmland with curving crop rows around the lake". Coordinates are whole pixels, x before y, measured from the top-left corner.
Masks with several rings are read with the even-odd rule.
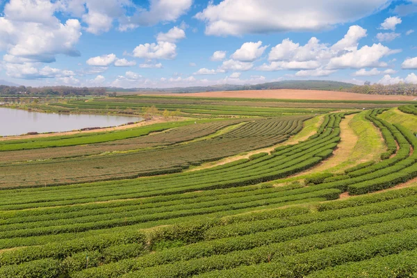
[[[0,277],[417,275],[415,102],[125,95],[31,108],[167,116],[0,140]]]

